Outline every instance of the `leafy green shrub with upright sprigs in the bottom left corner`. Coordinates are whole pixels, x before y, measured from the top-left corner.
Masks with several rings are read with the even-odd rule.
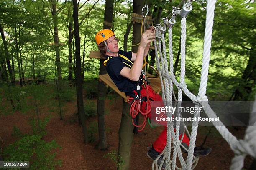
[[[30,122],[33,134],[24,134],[16,126],[13,127],[12,135],[18,140],[8,145],[3,150],[4,161],[29,161],[32,170],[53,170],[55,166],[61,166],[61,160],[56,160],[56,149],[60,146],[55,140],[46,142],[46,125],[49,117],[43,121],[32,119]],[[39,123],[39,124],[38,124]],[[20,169],[20,168],[18,168]]]

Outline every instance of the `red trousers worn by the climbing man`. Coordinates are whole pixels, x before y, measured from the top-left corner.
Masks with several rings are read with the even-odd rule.
[[[135,90],[134,90],[134,92],[136,93]],[[141,89],[141,96],[142,97],[146,96],[145,87],[142,87],[142,89]],[[159,94],[156,94],[150,85],[148,85],[148,96],[149,96],[150,100],[163,102],[162,97]],[[142,103],[143,112],[146,112],[146,110],[145,110],[146,104],[147,104],[146,102]],[[162,103],[162,105],[164,106],[164,103]],[[151,113],[149,113],[148,117],[151,119]],[[174,130],[175,130],[175,128],[174,128]],[[182,134],[179,135],[179,139],[181,139],[181,138],[182,138]],[[159,137],[153,143],[153,148],[157,152],[161,153],[164,150],[166,143],[167,143],[167,126],[165,126],[162,133],[159,135]],[[185,146],[187,145],[187,147],[189,146],[189,138],[186,134],[184,134],[182,144]]]

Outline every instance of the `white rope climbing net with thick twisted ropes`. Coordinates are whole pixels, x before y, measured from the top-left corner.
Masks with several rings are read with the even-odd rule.
[[[170,70],[168,70],[167,63],[167,54],[166,54],[166,45],[165,45],[165,31],[157,29],[157,41],[154,40],[155,46],[155,54],[156,54],[156,66],[157,70],[159,70],[159,76],[161,79],[161,87],[163,92],[163,100],[172,100],[173,87],[172,85],[176,85],[178,88],[178,106],[181,106],[182,101],[182,92],[187,95],[192,101],[197,102],[196,107],[202,105],[203,110],[207,114],[208,117],[217,118],[214,111],[211,109],[208,99],[206,97],[206,87],[207,87],[207,79],[208,79],[208,70],[209,70],[209,61],[210,61],[210,48],[211,48],[211,40],[212,40],[212,26],[213,26],[213,18],[214,18],[214,10],[215,10],[215,2],[216,0],[207,0],[207,14],[206,14],[206,26],[205,26],[205,37],[204,37],[204,49],[203,49],[203,59],[202,59],[202,72],[201,72],[201,82],[199,87],[198,95],[195,96],[192,92],[187,89],[187,85],[185,83],[185,55],[186,55],[186,18],[182,18],[181,20],[181,73],[180,73],[180,81],[178,82],[174,76],[173,72],[173,48],[172,48],[172,27],[168,28],[169,33],[169,65]],[[191,0],[187,0],[186,8],[190,9],[192,4]],[[192,7],[191,7],[192,9]],[[173,16],[171,18],[172,23],[175,23],[175,16],[179,15],[181,10],[176,10],[173,12]],[[183,16],[184,11],[182,12]],[[166,23],[165,23],[166,24]],[[160,27],[161,28],[161,27]],[[161,40],[163,51],[161,50]],[[159,51],[159,53],[158,53]],[[160,55],[160,57],[159,57]],[[160,67],[161,62],[161,67]],[[175,96],[175,95],[174,95]],[[256,96],[255,96],[256,98]],[[169,103],[170,104],[170,103]],[[222,122],[212,121],[212,124],[218,130],[218,132],[222,135],[222,137],[229,143],[230,148],[234,151],[235,156],[232,159],[230,170],[241,170],[243,168],[243,162],[246,155],[251,155],[253,158],[256,158],[256,102],[254,102],[253,111],[254,114],[250,117],[250,125],[246,129],[246,134],[243,140],[238,140],[234,135],[232,135],[228,129],[223,125]],[[179,116],[180,112],[177,112],[177,116]],[[167,115],[170,116],[170,115]],[[200,113],[196,112],[194,117],[199,117]],[[162,153],[158,156],[156,160],[152,163],[152,169],[156,168],[158,170],[162,167],[164,161],[166,162],[166,170],[181,170],[181,168],[177,167],[176,160],[177,155],[180,160],[180,164],[182,166],[182,170],[193,170],[197,165],[198,159],[193,155],[196,136],[197,136],[197,128],[199,119],[195,119],[192,124],[192,132],[189,134],[187,127],[185,126],[185,130],[190,137],[189,149],[185,148],[181,141],[184,137],[184,133],[182,135],[181,140],[179,140],[180,135],[180,122],[176,122],[175,131],[174,125],[172,122],[168,122],[167,126],[167,144]],[[173,140],[172,140],[173,138]],[[173,144],[173,147],[172,147]],[[184,148],[188,152],[187,160],[184,160],[181,147]],[[171,160],[171,149],[173,148],[172,160]],[[158,167],[157,161],[159,158],[163,156],[161,165]],[[172,164],[172,167],[171,167]]]

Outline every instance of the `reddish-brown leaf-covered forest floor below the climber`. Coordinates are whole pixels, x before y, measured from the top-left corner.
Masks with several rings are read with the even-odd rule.
[[[118,150],[118,130],[122,113],[122,98],[116,97],[114,100],[105,100],[105,123],[108,142],[108,150],[101,151],[95,148],[97,144],[97,117],[87,119],[87,127],[90,133],[91,143],[84,144],[82,128],[77,121],[77,102],[67,102],[63,108],[63,120],[60,120],[57,112],[49,112],[48,107],[42,107],[40,117],[51,115],[51,120],[46,126],[47,135],[44,140],[56,142],[61,146],[57,150],[56,158],[62,160],[62,166],[56,170],[115,170],[116,163],[110,153]],[[85,107],[88,103],[97,104],[97,99],[84,100]],[[97,108],[97,107],[96,107]],[[16,139],[11,135],[13,126],[20,128],[21,132],[28,133],[31,127],[28,124],[30,116],[15,112],[14,115],[0,116],[0,136],[4,141],[4,147],[13,143]],[[205,134],[210,127],[199,127],[197,133],[197,146],[203,143]],[[237,138],[243,138],[245,127],[228,127],[230,132]],[[146,156],[147,147],[151,147],[154,140],[163,130],[163,127],[150,128],[146,125],[145,129],[133,138],[131,147],[131,170],[150,170],[152,161]],[[231,159],[234,156],[228,143],[220,134],[212,128],[205,147],[212,148],[212,152],[200,158],[195,170],[229,170]],[[246,157],[244,170],[251,165],[252,158]]]

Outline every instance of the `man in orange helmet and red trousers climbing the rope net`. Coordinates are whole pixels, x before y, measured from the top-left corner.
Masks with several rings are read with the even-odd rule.
[[[146,30],[141,36],[141,42],[138,46],[137,53],[125,52],[119,50],[118,39],[115,37],[114,32],[111,30],[101,30],[97,32],[95,40],[98,45],[98,49],[101,53],[101,59],[105,60],[104,65],[108,75],[113,80],[118,90],[125,92],[126,96],[130,96],[133,99],[139,99],[143,102],[142,112],[145,113],[144,117],[151,119],[151,113],[148,112],[148,99],[154,101],[162,101],[160,95],[156,94],[154,90],[146,83],[142,74],[143,59],[148,55],[151,42],[155,39],[154,27]],[[133,63],[131,61],[134,61]],[[141,98],[138,98],[141,96]],[[133,102],[135,102],[133,100]],[[146,114],[147,112],[147,114]],[[135,120],[133,120],[135,121]],[[145,122],[145,121],[144,121]],[[136,125],[136,122],[133,122]],[[145,125],[144,125],[145,126]],[[139,127],[139,126],[137,126]],[[148,157],[155,160],[158,155],[164,150],[166,146],[167,127],[165,126],[162,133],[155,140],[152,147],[148,150]],[[182,138],[182,134],[179,139]],[[186,134],[182,139],[182,145],[186,148],[189,146],[189,138]],[[195,156],[206,156],[210,153],[210,148],[198,148],[195,147]],[[161,163],[161,158],[158,160],[158,165]],[[162,168],[165,167],[165,163]]]

